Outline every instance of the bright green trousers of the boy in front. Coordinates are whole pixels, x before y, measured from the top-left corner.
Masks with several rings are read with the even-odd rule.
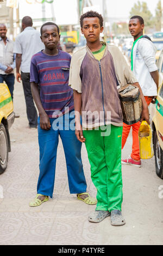
[[[121,172],[122,126],[107,125],[83,131],[91,165],[92,182],[97,188],[96,210],[120,210],[123,200]]]

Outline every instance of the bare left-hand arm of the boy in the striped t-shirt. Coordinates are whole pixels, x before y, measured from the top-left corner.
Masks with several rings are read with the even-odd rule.
[[[35,82],[31,82],[30,87],[31,87],[31,92],[33,95],[34,102],[36,103],[37,109],[39,111],[40,127],[43,130],[49,130],[51,129],[51,123],[49,121],[48,115],[45,112],[45,109],[42,106],[38,85]]]

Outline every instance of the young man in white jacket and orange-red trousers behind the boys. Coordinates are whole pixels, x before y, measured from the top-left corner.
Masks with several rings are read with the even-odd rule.
[[[159,72],[155,63],[156,49],[147,35],[143,35],[145,27],[141,16],[133,16],[129,21],[129,31],[134,37],[133,48],[131,50],[131,70],[141,86],[147,105],[154,100],[159,87]],[[133,125],[123,123],[122,149],[126,143],[130,128],[133,129],[132,153],[127,159],[122,159],[122,164],[130,164],[141,167],[139,150],[139,128],[140,121]]]

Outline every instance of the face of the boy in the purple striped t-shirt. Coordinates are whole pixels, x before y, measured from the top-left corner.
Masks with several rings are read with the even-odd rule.
[[[57,27],[54,25],[47,25],[42,28],[41,41],[48,49],[57,48],[60,35],[58,34]]]

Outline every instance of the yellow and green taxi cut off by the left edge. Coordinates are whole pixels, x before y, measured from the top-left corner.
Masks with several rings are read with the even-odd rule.
[[[14,123],[15,114],[7,84],[0,83],[0,174],[8,165],[8,153],[11,151],[9,129]]]

